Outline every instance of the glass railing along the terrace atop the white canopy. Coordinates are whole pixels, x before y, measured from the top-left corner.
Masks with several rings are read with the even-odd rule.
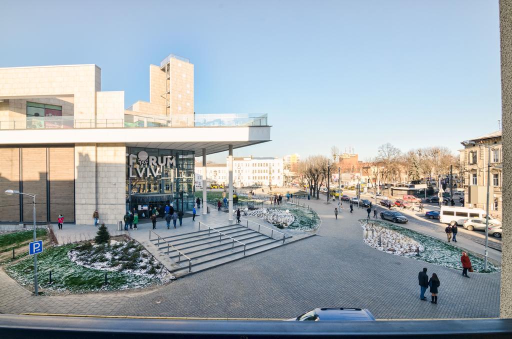
[[[134,112],[135,113],[135,112]],[[26,117],[0,120],[0,130],[101,129],[101,128],[180,128],[268,126],[266,114],[188,114],[150,116],[125,114],[124,119],[75,119],[63,117]]]

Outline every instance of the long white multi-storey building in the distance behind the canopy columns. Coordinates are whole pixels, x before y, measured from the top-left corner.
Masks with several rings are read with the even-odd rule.
[[[196,165],[196,186],[202,187],[203,168]],[[226,164],[207,164],[206,178],[209,184],[227,185],[229,173]],[[276,186],[284,184],[284,160],[272,157],[236,157],[233,159],[234,187]]]

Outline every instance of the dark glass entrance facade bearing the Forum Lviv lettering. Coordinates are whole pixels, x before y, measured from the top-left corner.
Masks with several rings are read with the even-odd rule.
[[[166,204],[188,211],[194,207],[194,152],[126,147],[126,209],[147,218]]]

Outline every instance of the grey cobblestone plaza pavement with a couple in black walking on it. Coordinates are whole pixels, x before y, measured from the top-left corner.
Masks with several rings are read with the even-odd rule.
[[[368,308],[377,319],[496,317],[500,274],[461,271],[378,251],[362,241],[366,211],[310,201],[317,236],[141,292],[31,296],[0,272],[0,312],[279,317],[315,307]],[[438,304],[419,300],[418,272],[437,273]],[[426,295],[429,295],[427,291]]]

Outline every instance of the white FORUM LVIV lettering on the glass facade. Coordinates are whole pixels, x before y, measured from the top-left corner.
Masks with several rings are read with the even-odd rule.
[[[135,164],[138,164],[138,166],[134,167]],[[155,157],[147,155],[145,151],[141,151],[137,155],[128,155],[128,166],[130,178],[156,178],[162,174],[164,167],[175,167],[176,158],[172,155]]]

